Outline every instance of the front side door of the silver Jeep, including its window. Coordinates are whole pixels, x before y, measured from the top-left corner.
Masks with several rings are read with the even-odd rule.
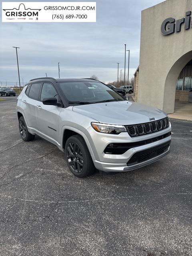
[[[46,139],[56,142],[59,141],[59,114],[61,107],[53,105],[44,105],[44,98],[55,97],[59,100],[58,93],[54,85],[50,82],[44,82],[40,93],[40,102],[36,106],[36,118],[38,131]]]

